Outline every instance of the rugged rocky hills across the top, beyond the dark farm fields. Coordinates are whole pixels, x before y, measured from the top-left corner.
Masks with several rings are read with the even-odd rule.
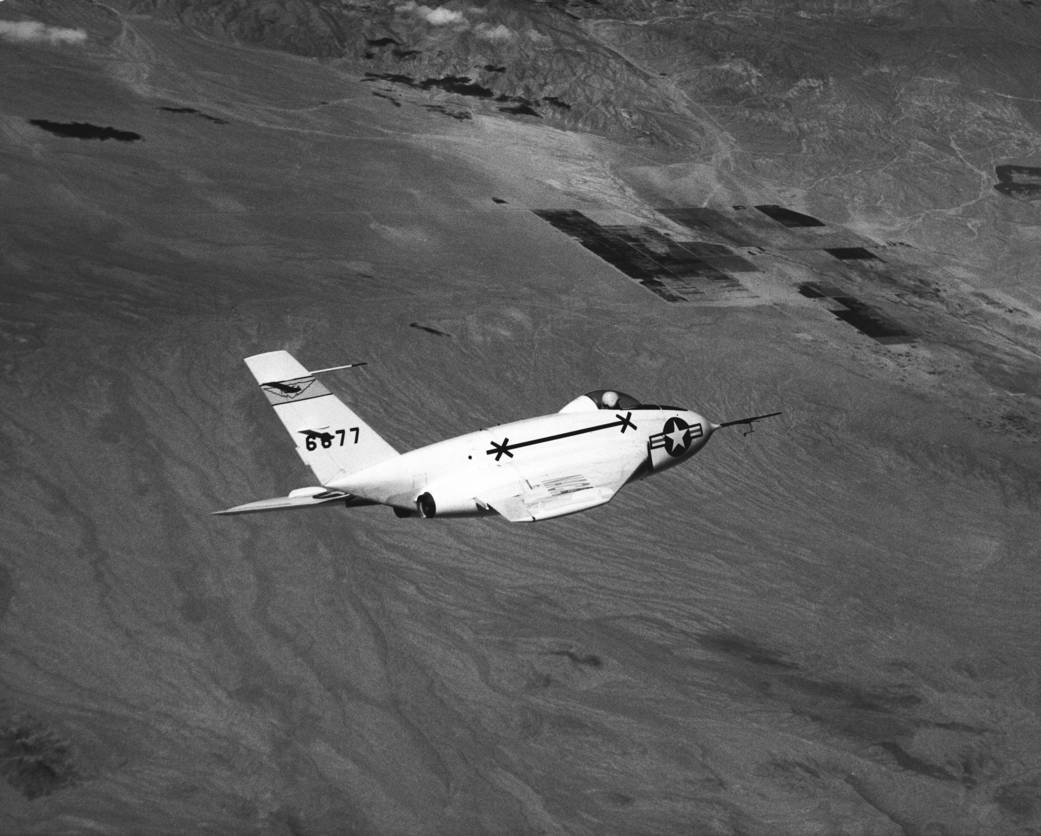
[[[994,200],[995,168],[1041,153],[1033,2],[124,2],[338,61],[391,100],[421,90],[459,118],[506,112],[708,163],[722,200],[765,193],[1013,282],[1032,270],[972,228],[1020,223]]]

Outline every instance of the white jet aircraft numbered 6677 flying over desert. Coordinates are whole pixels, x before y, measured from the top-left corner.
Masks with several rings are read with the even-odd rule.
[[[559,412],[501,424],[399,453],[288,352],[246,358],[320,486],[237,505],[219,514],[389,505],[399,516],[549,520],[609,502],[623,485],[690,458],[721,427],[678,406],[641,404],[600,389]]]

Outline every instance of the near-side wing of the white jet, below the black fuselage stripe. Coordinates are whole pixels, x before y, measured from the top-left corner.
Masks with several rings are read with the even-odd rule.
[[[511,523],[550,520],[610,502],[638,467],[639,462],[630,465],[612,459],[539,475],[525,474],[522,466],[522,478],[516,482],[485,490],[476,499]]]

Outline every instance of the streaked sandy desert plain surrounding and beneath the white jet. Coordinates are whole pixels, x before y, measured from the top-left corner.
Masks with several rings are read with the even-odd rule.
[[[1030,340],[887,348],[781,268],[666,304],[531,212],[655,218],[625,149],[130,23],[0,49],[0,830],[1041,827]],[[784,416],[537,526],[211,517],[310,482],[275,348],[369,361],[401,448],[605,385]]]

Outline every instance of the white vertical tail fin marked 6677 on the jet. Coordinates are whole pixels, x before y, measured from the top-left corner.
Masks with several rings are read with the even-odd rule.
[[[246,365],[320,484],[399,455],[289,352],[255,354]]]

